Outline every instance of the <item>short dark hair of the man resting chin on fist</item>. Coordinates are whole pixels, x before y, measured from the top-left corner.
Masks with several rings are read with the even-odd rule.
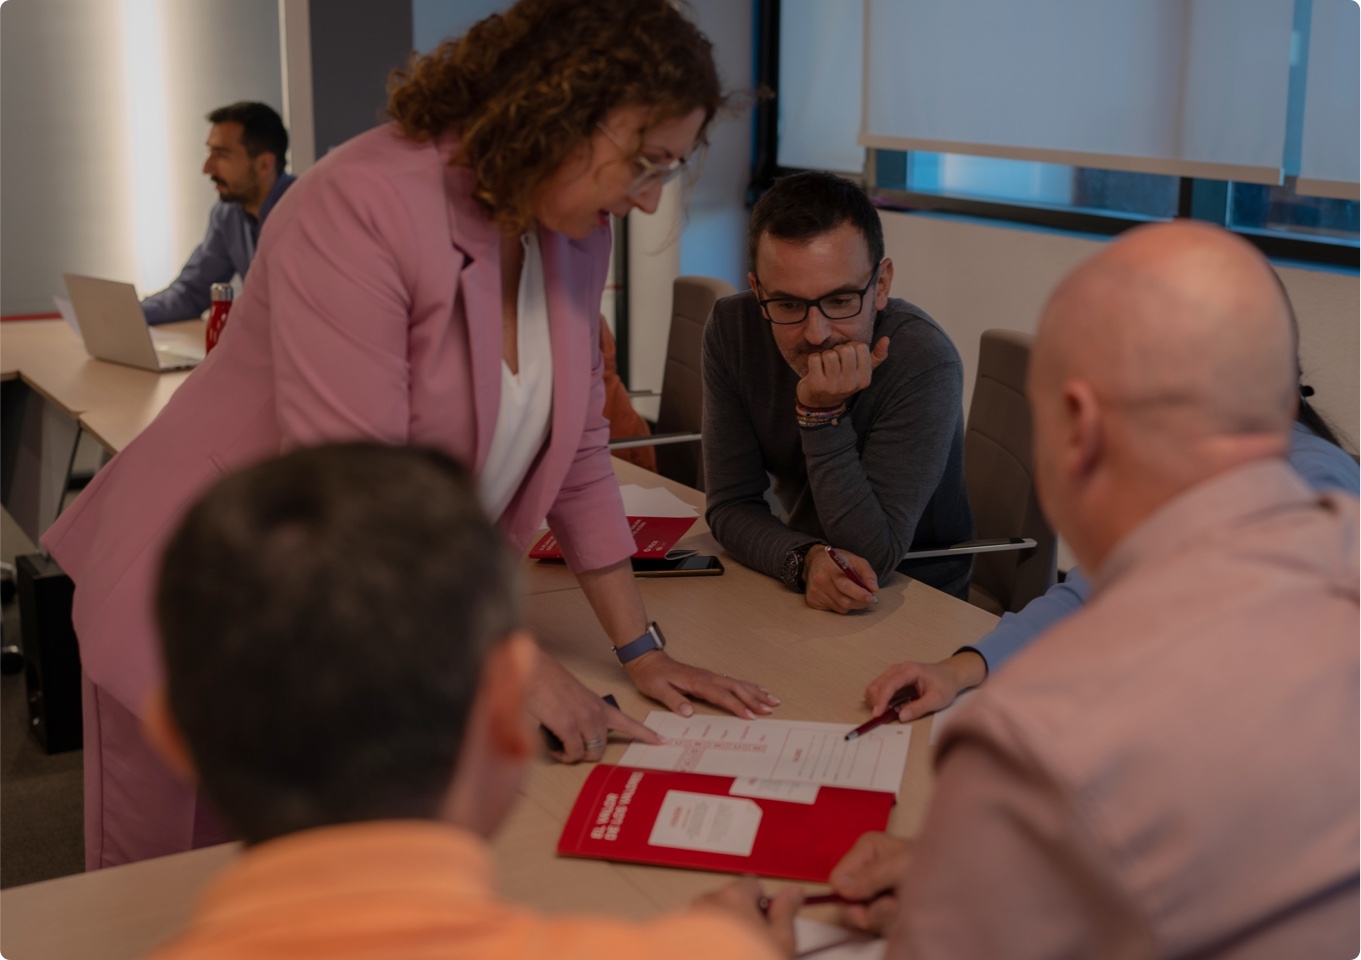
[[[776,240],[813,240],[851,222],[870,249],[870,266],[883,259],[883,225],[879,211],[857,184],[834,173],[807,170],[780,177],[751,211],[747,226],[747,261],[757,272],[757,245],[769,234]]]

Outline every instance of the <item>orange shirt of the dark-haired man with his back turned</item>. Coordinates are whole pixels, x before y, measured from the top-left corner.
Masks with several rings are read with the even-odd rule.
[[[762,960],[738,918],[691,910],[649,923],[542,916],[497,900],[482,839],[434,821],[325,827],[248,850],[154,960]]]

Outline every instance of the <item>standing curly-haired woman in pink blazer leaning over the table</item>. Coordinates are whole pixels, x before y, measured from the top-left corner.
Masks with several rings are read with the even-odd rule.
[[[744,716],[777,704],[657,647],[602,415],[610,217],[656,208],[721,103],[708,39],[667,0],[521,0],[414,60],[395,123],[283,197],[219,346],[44,538],[76,583],[87,869],[223,839],[142,737],[155,568],[207,485],[290,447],[446,451],[517,547],[547,516],[641,692],[682,714],[689,696]],[[520,379],[534,317],[540,355]],[[516,399],[536,385],[538,407]],[[535,686],[565,760],[597,760],[610,729],[652,738],[547,656]]]

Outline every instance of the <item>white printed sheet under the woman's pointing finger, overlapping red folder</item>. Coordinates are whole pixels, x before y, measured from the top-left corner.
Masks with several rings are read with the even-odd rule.
[[[676,716],[652,711],[644,720],[666,743],[632,743],[619,763],[757,780],[795,780],[898,795],[912,730],[886,724],[845,741],[844,723]]]

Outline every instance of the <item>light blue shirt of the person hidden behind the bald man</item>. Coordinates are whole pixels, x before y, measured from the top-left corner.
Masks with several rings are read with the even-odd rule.
[[[1315,490],[1343,490],[1357,496],[1361,489],[1357,462],[1302,423],[1296,423],[1290,432],[1290,452],[1286,459]],[[1087,579],[1078,568],[1072,568],[1063,583],[1049,587],[1044,595],[1026,603],[1021,613],[1002,614],[998,625],[981,640],[961,650],[972,650],[981,656],[991,674],[1037,636],[1078,610],[1090,591]]]

